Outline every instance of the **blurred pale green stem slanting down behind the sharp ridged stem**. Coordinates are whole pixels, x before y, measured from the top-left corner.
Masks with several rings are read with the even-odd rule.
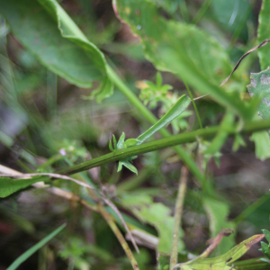
[[[148,108],[139,101],[139,98],[133,94],[133,92],[130,90],[130,88],[125,85],[121,78],[114,72],[112,67],[107,67],[108,75],[110,76],[112,82],[114,85],[116,85],[122,94],[124,94],[130,103],[133,104],[133,106],[140,112],[143,117],[150,122],[152,125],[154,125],[158,120],[155,117],[155,115],[148,111]],[[166,129],[158,130],[158,132],[163,137],[169,137],[171,136],[171,133]],[[189,156],[188,153],[185,152],[184,148],[181,148],[180,146],[174,147],[175,152],[181,157],[181,160],[184,162],[184,165],[188,167],[190,172],[201,182],[202,185],[205,183],[204,175],[202,175],[202,172],[200,168],[196,165],[196,163],[193,161],[192,157]]]

